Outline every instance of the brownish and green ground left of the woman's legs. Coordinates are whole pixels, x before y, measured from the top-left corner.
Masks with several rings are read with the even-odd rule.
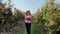
[[[1,34],[26,34],[25,24],[20,23],[17,26],[11,28],[8,32],[2,32]]]

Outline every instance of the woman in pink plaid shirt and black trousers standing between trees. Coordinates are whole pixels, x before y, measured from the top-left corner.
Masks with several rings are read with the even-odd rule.
[[[25,15],[25,25],[26,25],[27,34],[30,34],[31,19],[32,19],[32,15],[30,11],[27,11]]]

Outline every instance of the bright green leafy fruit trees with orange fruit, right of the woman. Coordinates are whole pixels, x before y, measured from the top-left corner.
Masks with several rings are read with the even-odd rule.
[[[45,31],[46,34],[55,34],[60,26],[60,5],[48,3],[37,11],[34,15],[34,21],[37,20],[37,25]],[[43,27],[43,28],[42,28]],[[38,29],[38,28],[36,28]]]

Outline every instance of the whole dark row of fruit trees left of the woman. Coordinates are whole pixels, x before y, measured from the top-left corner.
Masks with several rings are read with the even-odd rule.
[[[0,32],[8,31],[11,27],[16,26],[19,20],[24,20],[24,15],[21,11],[17,10],[13,15],[11,8],[6,8],[5,5],[1,5],[0,8]]]

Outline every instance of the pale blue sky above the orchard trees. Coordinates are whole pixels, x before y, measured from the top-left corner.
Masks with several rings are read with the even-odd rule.
[[[56,0],[60,2],[60,0]],[[21,11],[30,10],[31,13],[35,13],[39,8],[44,5],[44,0],[13,0],[14,7]]]

